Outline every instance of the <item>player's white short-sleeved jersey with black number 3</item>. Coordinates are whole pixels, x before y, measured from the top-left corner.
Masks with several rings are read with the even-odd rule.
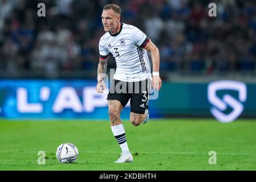
[[[139,28],[121,23],[117,34],[106,32],[100,38],[100,59],[107,59],[109,53],[115,57],[115,80],[135,82],[151,79],[151,66],[144,49],[149,41]]]

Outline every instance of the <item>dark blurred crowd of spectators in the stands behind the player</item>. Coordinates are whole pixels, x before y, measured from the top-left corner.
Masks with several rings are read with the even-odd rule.
[[[45,17],[38,16],[42,2]],[[210,2],[217,17],[208,15]],[[256,1],[0,0],[2,77],[96,76],[100,16],[108,3],[121,7],[121,22],[137,26],[159,47],[163,74],[256,72]]]

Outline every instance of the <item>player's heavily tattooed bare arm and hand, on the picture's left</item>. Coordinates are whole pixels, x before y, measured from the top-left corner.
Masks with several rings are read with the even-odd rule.
[[[107,72],[107,59],[101,59],[97,66],[97,86],[96,90],[98,93],[103,93],[105,90],[104,77]]]

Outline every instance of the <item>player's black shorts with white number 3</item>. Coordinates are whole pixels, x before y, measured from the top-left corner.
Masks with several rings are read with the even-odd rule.
[[[117,100],[124,107],[131,99],[131,111],[137,114],[144,114],[148,109],[150,80],[125,82],[113,80],[110,86],[107,100]]]

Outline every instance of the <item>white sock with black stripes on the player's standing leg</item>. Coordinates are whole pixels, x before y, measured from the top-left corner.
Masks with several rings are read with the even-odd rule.
[[[116,138],[117,143],[121,147],[122,153],[125,153],[125,154],[130,153],[128,145],[127,145],[127,141],[126,141],[124,125],[119,124],[116,126],[111,126],[111,130],[112,130],[113,135]]]

